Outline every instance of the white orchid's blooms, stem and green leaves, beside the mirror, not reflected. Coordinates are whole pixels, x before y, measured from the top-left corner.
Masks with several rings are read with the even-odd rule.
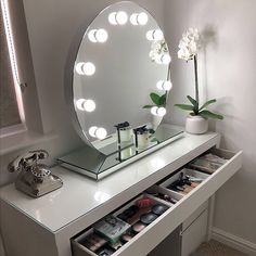
[[[195,75],[195,99],[187,95],[191,104],[175,104],[175,106],[189,111],[192,116],[202,116],[204,118],[223,119],[222,115],[213,113],[206,107],[216,102],[216,99],[206,101],[200,106],[199,97],[199,76],[197,76],[197,52],[200,47],[200,34],[196,28],[189,28],[183,35],[179,43],[178,57],[187,62],[194,61],[194,75]]]

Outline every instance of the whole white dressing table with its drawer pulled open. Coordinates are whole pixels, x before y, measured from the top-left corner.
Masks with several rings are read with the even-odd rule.
[[[220,136],[215,132],[184,132],[172,143],[99,181],[56,166],[52,172],[62,178],[63,187],[39,199],[18,192],[13,184],[1,188],[1,232],[7,255],[98,255],[80,243],[85,232],[106,215],[126,209],[143,192],[168,208],[112,255],[154,255],[152,249],[166,238],[165,244],[171,247],[174,243],[171,255],[189,255],[195,246],[190,235],[192,243],[210,238],[215,192],[242,166],[242,152],[220,150],[219,142]],[[168,193],[167,183],[174,175],[209,150],[227,162],[176,204],[151,194],[153,190]]]

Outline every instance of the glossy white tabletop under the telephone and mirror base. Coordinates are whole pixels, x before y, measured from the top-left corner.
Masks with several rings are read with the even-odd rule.
[[[1,188],[0,196],[48,230],[55,232],[209,141],[218,143],[219,136],[214,132],[201,136],[184,133],[181,139],[100,181],[57,166],[52,168],[52,172],[62,178],[64,184],[61,189],[42,197],[31,199],[10,184]]]

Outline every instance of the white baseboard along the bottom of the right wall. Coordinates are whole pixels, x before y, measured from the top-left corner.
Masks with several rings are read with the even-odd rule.
[[[227,244],[228,246],[235,248],[249,256],[256,256],[256,244],[231,233],[228,233],[221,229],[213,228],[212,239]]]

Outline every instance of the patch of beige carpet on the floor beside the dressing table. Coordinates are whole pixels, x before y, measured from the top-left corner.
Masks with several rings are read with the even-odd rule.
[[[203,243],[191,256],[246,256],[236,249],[233,249],[222,243],[215,240],[210,240],[207,243]]]

